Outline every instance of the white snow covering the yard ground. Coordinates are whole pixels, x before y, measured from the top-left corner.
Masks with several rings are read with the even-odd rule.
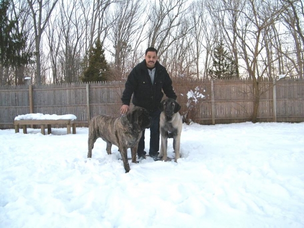
[[[178,163],[129,173],[88,128],[40,131],[0,130],[0,227],[304,227],[304,123],[183,125]]]

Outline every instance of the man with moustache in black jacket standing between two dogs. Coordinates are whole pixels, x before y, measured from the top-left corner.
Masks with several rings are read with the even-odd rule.
[[[158,51],[155,48],[148,48],[145,51],[144,60],[137,64],[128,76],[123,92],[121,114],[124,115],[132,103],[135,106],[143,107],[148,110],[152,118],[150,126],[150,147],[149,156],[157,159],[160,148],[160,114],[159,105],[164,96],[176,100],[176,94],[172,87],[172,81],[164,66],[158,62]],[[162,92],[164,91],[164,93]],[[137,156],[144,158],[144,130],[140,138]]]

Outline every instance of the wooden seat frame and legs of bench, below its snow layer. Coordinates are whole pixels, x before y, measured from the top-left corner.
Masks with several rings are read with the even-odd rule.
[[[76,134],[76,121],[75,120],[15,120],[15,133],[19,132],[19,126],[22,126],[23,133],[27,134],[27,125],[41,125],[41,134],[45,135],[45,126],[48,127],[48,134],[52,133],[51,125],[54,124],[66,124],[66,133],[71,133],[71,126],[72,126],[72,133]]]

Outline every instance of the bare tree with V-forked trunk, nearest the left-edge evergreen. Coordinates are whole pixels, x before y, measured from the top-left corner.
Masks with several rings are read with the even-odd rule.
[[[27,0],[31,10],[33,32],[35,34],[36,83],[41,84],[41,38],[58,0]]]

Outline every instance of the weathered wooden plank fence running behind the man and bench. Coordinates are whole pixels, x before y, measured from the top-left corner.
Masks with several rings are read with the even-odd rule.
[[[200,124],[251,121],[251,80],[191,81],[174,79],[181,115]],[[120,115],[124,82],[24,85],[0,87],[0,128],[13,128],[14,118],[26,113],[77,116],[78,126],[88,126],[95,115]],[[259,83],[259,122],[303,122],[304,80]],[[192,96],[187,96],[192,93]],[[203,94],[204,98],[199,95]],[[275,110],[275,111],[274,111]]]

